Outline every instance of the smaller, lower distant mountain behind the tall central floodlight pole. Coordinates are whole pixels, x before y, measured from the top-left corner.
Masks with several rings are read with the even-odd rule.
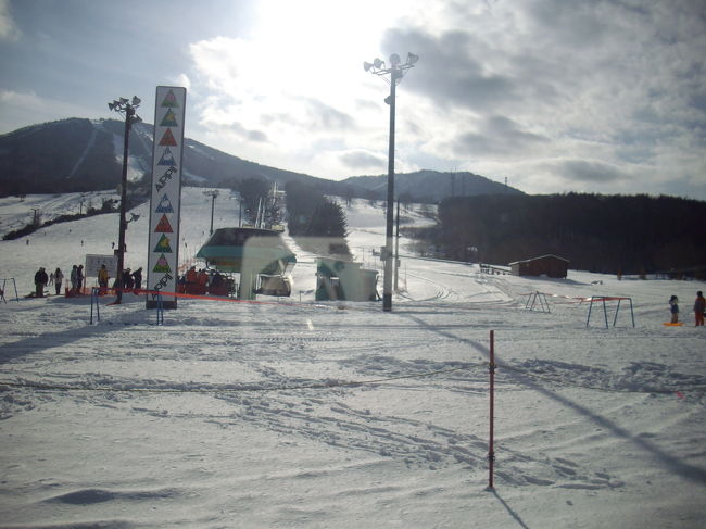
[[[343,180],[353,187],[363,187],[378,196],[387,196],[388,177],[352,176]],[[499,184],[474,173],[440,173],[417,171],[394,175],[395,196],[408,194],[413,202],[439,202],[446,197],[470,194],[524,194],[519,189]]]

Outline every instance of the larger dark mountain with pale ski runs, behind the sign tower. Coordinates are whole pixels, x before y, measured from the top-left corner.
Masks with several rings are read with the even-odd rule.
[[[139,182],[152,166],[153,127],[130,131],[128,180]],[[121,181],[124,123],[70,118],[24,127],[0,136],[0,196],[114,189]],[[186,139],[184,184],[219,187],[234,179],[304,181],[326,193],[342,184],[268,167]]]

